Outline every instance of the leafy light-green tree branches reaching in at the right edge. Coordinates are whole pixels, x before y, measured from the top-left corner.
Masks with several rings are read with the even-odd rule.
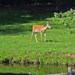
[[[60,19],[60,23],[64,24],[67,28],[71,28],[70,24],[75,24],[75,10],[70,9],[67,12],[60,12],[60,13],[54,13],[54,17],[57,20],[58,18],[63,18]]]

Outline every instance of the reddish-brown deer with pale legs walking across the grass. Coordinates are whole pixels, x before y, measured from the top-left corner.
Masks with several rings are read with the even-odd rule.
[[[46,26],[44,26],[44,25],[33,25],[33,31],[32,31],[32,34],[31,34],[31,40],[30,41],[32,41],[32,36],[35,32],[36,32],[36,34],[35,34],[36,42],[38,42],[37,37],[36,37],[38,32],[40,32],[40,34],[41,34],[41,41],[42,41],[42,32],[44,32],[44,36],[45,36],[44,42],[45,42],[45,40],[46,40],[45,31],[46,31],[47,28],[51,29],[49,21],[47,21]]]

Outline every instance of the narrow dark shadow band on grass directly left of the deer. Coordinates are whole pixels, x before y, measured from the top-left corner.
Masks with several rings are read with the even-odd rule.
[[[31,26],[7,26],[5,29],[0,28],[0,34],[7,35],[7,34],[18,34],[20,32],[24,32],[26,34],[27,31],[32,31]]]

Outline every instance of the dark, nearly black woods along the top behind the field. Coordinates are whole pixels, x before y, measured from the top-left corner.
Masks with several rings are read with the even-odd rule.
[[[75,7],[75,0],[0,0],[0,7]]]

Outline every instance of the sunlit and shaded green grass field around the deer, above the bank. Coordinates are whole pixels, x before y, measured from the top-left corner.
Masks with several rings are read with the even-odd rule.
[[[43,10],[0,9],[0,61],[74,64],[75,22],[68,29],[53,16]],[[46,42],[41,42],[39,33],[39,42],[34,36],[30,42],[32,26],[47,21],[52,29],[46,30]]]

